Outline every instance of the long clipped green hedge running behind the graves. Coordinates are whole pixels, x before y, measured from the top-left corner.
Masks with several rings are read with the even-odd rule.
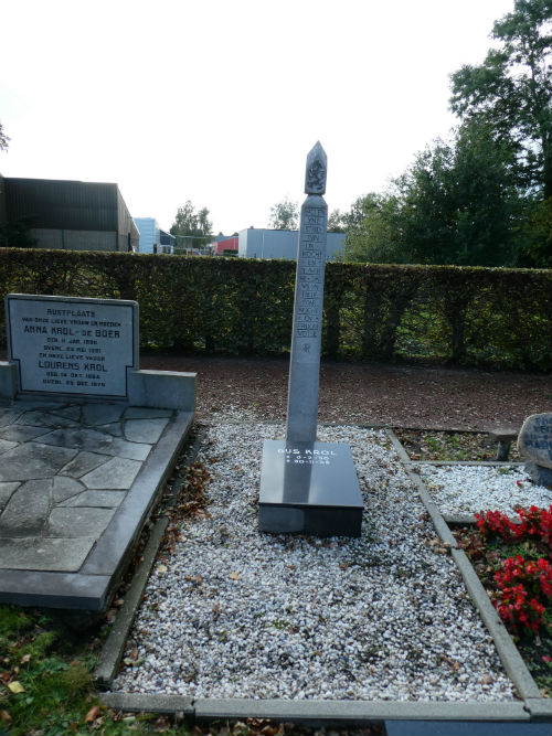
[[[290,260],[0,249],[3,294],[136,299],[142,348],[284,353],[294,281]],[[329,263],[322,350],[548,371],[551,317],[552,270]]]

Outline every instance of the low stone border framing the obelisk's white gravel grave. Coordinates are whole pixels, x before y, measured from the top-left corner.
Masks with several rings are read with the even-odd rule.
[[[253,698],[192,698],[182,695],[151,695],[141,693],[100,693],[100,701],[107,707],[123,712],[147,712],[190,718],[191,721],[263,718],[284,723],[291,722],[312,727],[368,726],[394,722],[417,723],[506,723],[519,726],[517,732],[539,736],[549,733],[552,724],[552,698],[542,697],[537,683],[523,662],[510,634],[492,606],[487,591],[482,587],[469,558],[460,550],[438,506],[434,503],[426,486],[413,467],[420,461],[411,460],[401,441],[391,427],[381,425],[357,425],[365,429],[383,429],[394,449],[397,451],[406,474],[415,484],[420,499],[424,504],[435,531],[460,573],[467,591],[487,630],[489,631],[497,652],[508,676],[518,690],[518,702],[399,702],[399,701],[288,701],[288,700],[253,700]],[[191,450],[193,460],[201,445],[200,435]],[[431,461],[427,461],[432,465]],[[521,462],[485,461],[485,462],[444,462],[444,465],[485,465],[505,466],[523,465]],[[178,495],[176,489],[171,502]],[[126,639],[130,631],[137,608],[146,588],[151,566],[153,565],[164,530],[164,520],[160,520],[153,530],[150,542],[142,555],[144,562],[137,569],[130,589],[126,594],[128,605],[119,612],[112,633],[105,646],[103,655],[95,672],[96,683],[108,689],[116,676],[121,661]],[[458,518],[449,523],[460,523]],[[461,522],[464,523],[464,521]],[[468,521],[469,523],[469,521]],[[406,724],[404,724],[406,725]],[[544,728],[541,730],[540,726]]]

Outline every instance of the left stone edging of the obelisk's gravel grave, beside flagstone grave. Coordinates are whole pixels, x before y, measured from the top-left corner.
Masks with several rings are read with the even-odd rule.
[[[117,674],[136,611],[140,605],[141,596],[148,583],[149,574],[168,523],[169,520],[164,516],[159,519],[153,526],[142,554],[142,562],[132,577],[130,588],[125,594],[125,602],[118,611],[112,631],[104,644],[99,662],[94,671],[94,680],[100,687],[109,686]]]

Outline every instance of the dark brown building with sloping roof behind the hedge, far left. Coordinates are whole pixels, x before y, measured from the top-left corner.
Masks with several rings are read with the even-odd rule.
[[[39,248],[138,250],[117,184],[0,177],[0,225],[19,223]]]

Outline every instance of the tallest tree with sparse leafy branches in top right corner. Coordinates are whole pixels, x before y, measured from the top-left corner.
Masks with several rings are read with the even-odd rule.
[[[516,0],[498,20],[479,66],[452,77],[450,108],[461,120],[482,120],[517,154],[518,184],[552,196],[552,3]]]

